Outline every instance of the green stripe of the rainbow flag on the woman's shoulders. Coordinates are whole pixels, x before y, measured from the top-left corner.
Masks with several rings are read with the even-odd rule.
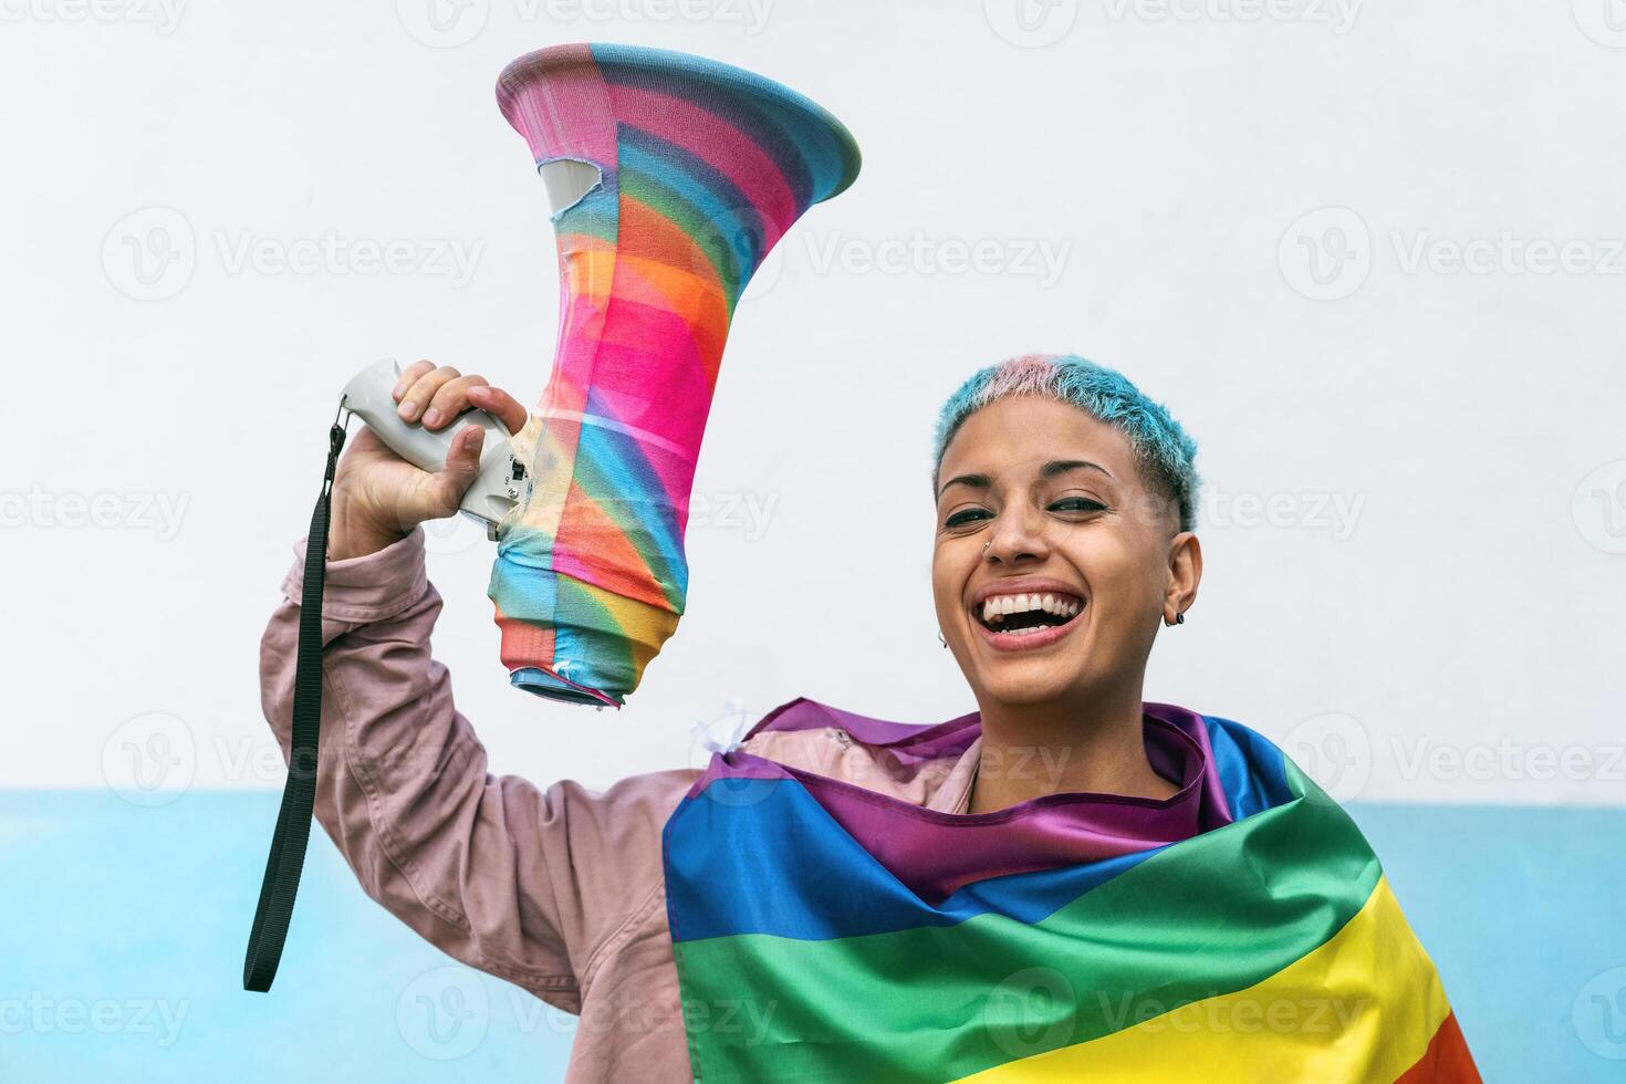
[[[953,1079],[1246,990],[1332,938],[1380,868],[1298,798],[1176,843],[1039,923],[977,915],[834,941],[678,943],[702,1081]]]

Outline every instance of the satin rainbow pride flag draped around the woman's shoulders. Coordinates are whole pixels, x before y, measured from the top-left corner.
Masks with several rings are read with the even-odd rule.
[[[663,835],[694,1077],[1478,1081],[1348,814],[1247,726],[1145,712],[1161,803],[951,814],[714,754]],[[813,728],[896,777],[980,722],[797,699],[746,738]]]

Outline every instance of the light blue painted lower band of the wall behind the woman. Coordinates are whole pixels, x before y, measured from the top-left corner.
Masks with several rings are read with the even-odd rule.
[[[0,791],[0,1081],[563,1077],[576,1017],[420,941],[320,829],[276,985],[244,993],[275,814]],[[1595,978],[1626,969],[1626,811],[1354,814],[1488,1081],[1626,1079],[1626,970]]]

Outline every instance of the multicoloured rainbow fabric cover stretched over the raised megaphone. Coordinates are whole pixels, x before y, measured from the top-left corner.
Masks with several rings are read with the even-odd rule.
[[[498,104],[538,167],[592,163],[600,182],[553,215],[553,375],[514,437],[530,489],[488,593],[514,684],[620,705],[683,614],[694,463],[740,293],[852,184],[859,150],[806,98],[659,49],[528,54]]]

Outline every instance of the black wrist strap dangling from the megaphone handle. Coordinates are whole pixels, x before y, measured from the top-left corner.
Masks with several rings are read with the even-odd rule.
[[[299,600],[299,648],[294,666],[294,725],[288,754],[288,782],[283,804],[276,811],[272,853],[265,860],[260,902],[254,908],[249,952],[242,960],[242,988],[265,993],[276,978],[299,894],[306,843],[311,840],[311,816],[315,811],[315,759],[322,733],[322,587],[327,579],[327,525],[332,507],[333,468],[345,445],[345,429],[337,421],[327,432],[327,470],[322,492],[311,512],[306,536],[304,590]]]

